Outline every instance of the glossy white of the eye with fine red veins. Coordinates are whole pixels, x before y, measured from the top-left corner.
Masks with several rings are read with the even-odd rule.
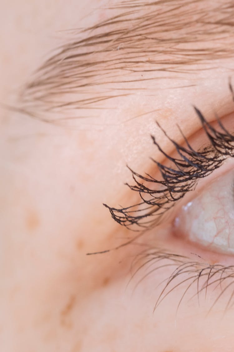
[[[234,171],[216,178],[183,206],[174,228],[210,250],[234,253]]]

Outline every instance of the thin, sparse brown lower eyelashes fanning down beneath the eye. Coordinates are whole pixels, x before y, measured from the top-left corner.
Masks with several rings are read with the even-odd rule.
[[[143,264],[139,266],[139,262],[141,263],[142,260],[144,260]],[[162,286],[163,288],[158,298],[156,298],[154,312],[176,288],[182,287],[183,285],[185,285],[185,289],[183,289],[183,293],[179,297],[176,313],[186,297],[188,301],[197,297],[199,305],[202,299],[205,300],[206,303],[208,301],[208,314],[222,298],[225,304],[224,313],[234,305],[233,265],[210,265],[196,260],[193,261],[188,257],[167,251],[150,249],[138,254],[133,262],[133,266],[138,266],[138,268],[132,275],[131,281],[136,275],[140,274],[142,270],[147,268],[147,273],[141,276],[141,279],[137,281],[135,289],[152,273],[155,274],[156,271],[168,267],[174,268],[174,270],[172,269],[171,275],[158,284],[158,287]],[[189,294],[190,288],[194,290],[194,287],[196,293],[192,295]],[[212,299],[210,299],[210,294],[213,292],[216,293],[215,298],[212,297]],[[224,296],[226,293],[228,293],[228,295]],[[207,299],[208,296],[209,300]]]

